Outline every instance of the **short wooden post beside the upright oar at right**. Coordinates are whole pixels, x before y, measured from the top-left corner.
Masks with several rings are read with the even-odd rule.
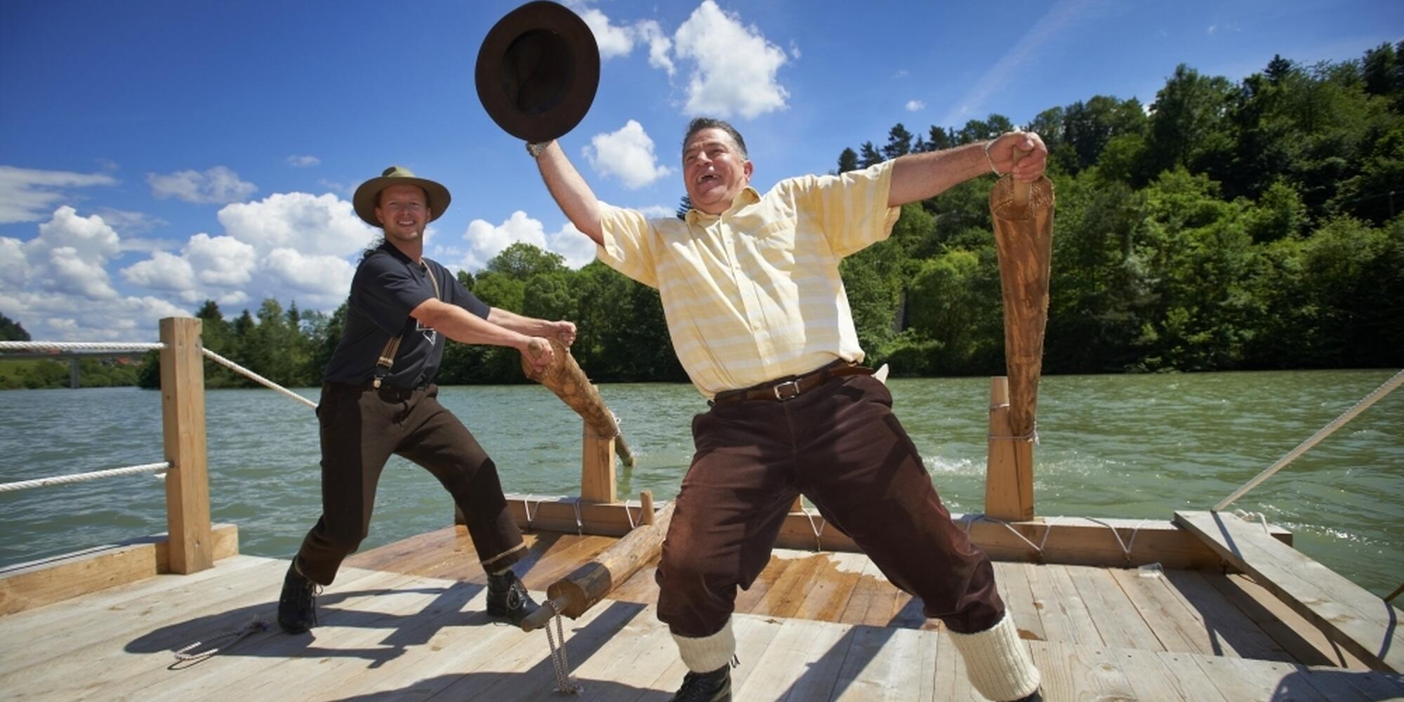
[[[1033,442],[1009,428],[1009,379],[990,379],[990,458],[984,470],[984,514],[995,519],[1033,518]]]

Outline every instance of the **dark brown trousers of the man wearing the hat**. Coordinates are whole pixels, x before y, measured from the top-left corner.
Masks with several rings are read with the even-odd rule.
[[[525,555],[497,466],[468,427],[438,403],[438,386],[376,390],[324,383],[317,418],[322,518],[302,541],[296,560],[307,578],[331,584],[341,560],[365,539],[375,487],[390,453],[424,466],[453,496],[484,569],[504,569]]]

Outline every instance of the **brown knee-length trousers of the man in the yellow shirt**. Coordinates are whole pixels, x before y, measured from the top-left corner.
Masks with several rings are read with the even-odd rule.
[[[835,378],[786,402],[716,404],[694,417],[692,438],[657,571],[673,633],[726,625],[800,493],[927,616],[962,633],[1004,616],[990,559],[952,524],[882,382]]]

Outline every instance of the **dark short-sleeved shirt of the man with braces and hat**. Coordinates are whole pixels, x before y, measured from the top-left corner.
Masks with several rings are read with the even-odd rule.
[[[323,380],[369,383],[386,341],[399,334],[400,348],[380,386],[410,389],[431,383],[444,359],[444,334],[410,316],[410,310],[434,296],[430,275],[438,281],[444,302],[487,319],[490,307],[448,268],[428,258],[424,265],[416,264],[393,244],[382,243],[361,260],[351,279],[341,343],[331,352]]]

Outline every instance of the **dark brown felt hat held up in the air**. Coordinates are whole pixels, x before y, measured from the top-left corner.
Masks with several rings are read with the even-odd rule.
[[[600,46],[576,13],[546,0],[497,21],[477,49],[477,98],[507,133],[549,142],[571,131],[600,86]]]

